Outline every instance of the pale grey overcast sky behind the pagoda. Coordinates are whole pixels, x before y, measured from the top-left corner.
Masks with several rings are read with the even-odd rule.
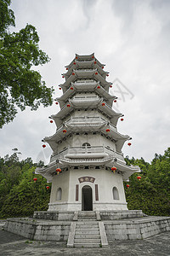
[[[38,67],[47,86],[56,88],[61,73],[75,54],[89,55],[105,64],[114,82],[111,94],[116,110],[125,117],[118,122],[122,134],[133,137],[125,143],[124,155],[150,161],[155,153],[170,147],[170,1],[166,0],[13,0],[11,9],[19,31],[26,23],[36,26],[40,48],[51,58]],[[49,146],[42,150],[42,138],[55,132],[48,116],[59,105],[30,108],[17,114],[13,123],[0,130],[0,155],[18,148],[21,158],[48,163]]]

